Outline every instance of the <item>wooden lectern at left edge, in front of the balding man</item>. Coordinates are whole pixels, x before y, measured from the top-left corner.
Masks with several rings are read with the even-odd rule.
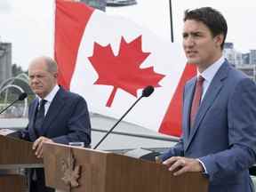
[[[26,191],[26,178],[22,168],[43,167],[43,160],[36,158],[32,143],[0,135],[0,191]]]

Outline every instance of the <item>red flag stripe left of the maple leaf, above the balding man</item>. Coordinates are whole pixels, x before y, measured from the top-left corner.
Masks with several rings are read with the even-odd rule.
[[[92,12],[84,3],[56,0],[54,57],[59,67],[58,82],[66,89],[70,87],[79,45]]]

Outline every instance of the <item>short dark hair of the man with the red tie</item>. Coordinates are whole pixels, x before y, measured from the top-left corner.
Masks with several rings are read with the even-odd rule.
[[[184,15],[184,22],[186,20],[201,21],[207,28],[210,29],[212,37],[222,34],[224,36],[222,44],[220,44],[223,50],[225,39],[228,33],[227,21],[223,15],[213,9],[212,7],[202,7],[195,10],[186,10]]]

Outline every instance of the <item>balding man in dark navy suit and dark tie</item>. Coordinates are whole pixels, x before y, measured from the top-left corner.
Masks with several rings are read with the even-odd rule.
[[[43,143],[91,143],[91,123],[84,98],[67,92],[57,84],[57,63],[49,57],[32,60],[28,67],[29,85],[36,99],[28,108],[28,126],[20,132],[24,140],[34,142],[38,158],[44,156]],[[28,172],[30,192],[54,191],[44,184],[44,170]]]

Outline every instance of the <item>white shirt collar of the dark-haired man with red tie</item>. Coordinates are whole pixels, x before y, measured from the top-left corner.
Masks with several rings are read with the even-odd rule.
[[[206,68],[203,73],[197,70],[197,76],[203,76],[204,80],[210,83],[224,61],[224,56],[221,56],[219,60]]]

